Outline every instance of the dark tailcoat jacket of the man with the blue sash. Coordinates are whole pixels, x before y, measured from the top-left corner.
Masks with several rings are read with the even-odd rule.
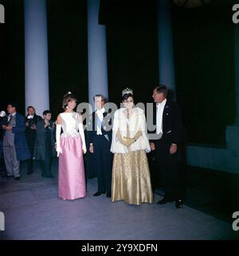
[[[108,112],[104,112],[103,114],[104,119],[102,121],[101,125],[101,132],[104,136],[104,139],[107,140],[111,144],[112,143],[112,128],[108,131],[108,125],[112,126],[112,118],[110,118],[110,114]],[[88,139],[88,145],[89,144],[95,144],[96,143],[96,136],[97,136],[97,128],[96,128],[96,112],[92,112],[92,114],[89,117],[89,121],[87,124],[87,139]]]

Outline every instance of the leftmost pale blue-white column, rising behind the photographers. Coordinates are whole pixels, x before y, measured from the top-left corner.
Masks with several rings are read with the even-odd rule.
[[[45,0],[24,0],[25,107],[41,116],[49,109],[48,39]]]

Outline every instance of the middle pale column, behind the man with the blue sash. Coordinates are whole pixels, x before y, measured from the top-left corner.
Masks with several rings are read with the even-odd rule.
[[[103,94],[108,98],[108,68],[106,51],[106,31],[98,24],[100,0],[87,1],[88,25],[88,100]]]

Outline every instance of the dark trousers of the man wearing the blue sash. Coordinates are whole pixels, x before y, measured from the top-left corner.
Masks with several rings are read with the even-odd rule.
[[[112,191],[112,160],[111,143],[103,136],[96,136],[94,140],[94,154],[96,156],[96,171],[98,177],[98,192]]]

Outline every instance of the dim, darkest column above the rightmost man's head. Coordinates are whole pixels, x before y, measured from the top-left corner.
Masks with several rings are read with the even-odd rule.
[[[157,1],[158,14],[158,44],[159,44],[159,84],[175,94],[174,77],[174,45],[170,13],[170,1]]]

